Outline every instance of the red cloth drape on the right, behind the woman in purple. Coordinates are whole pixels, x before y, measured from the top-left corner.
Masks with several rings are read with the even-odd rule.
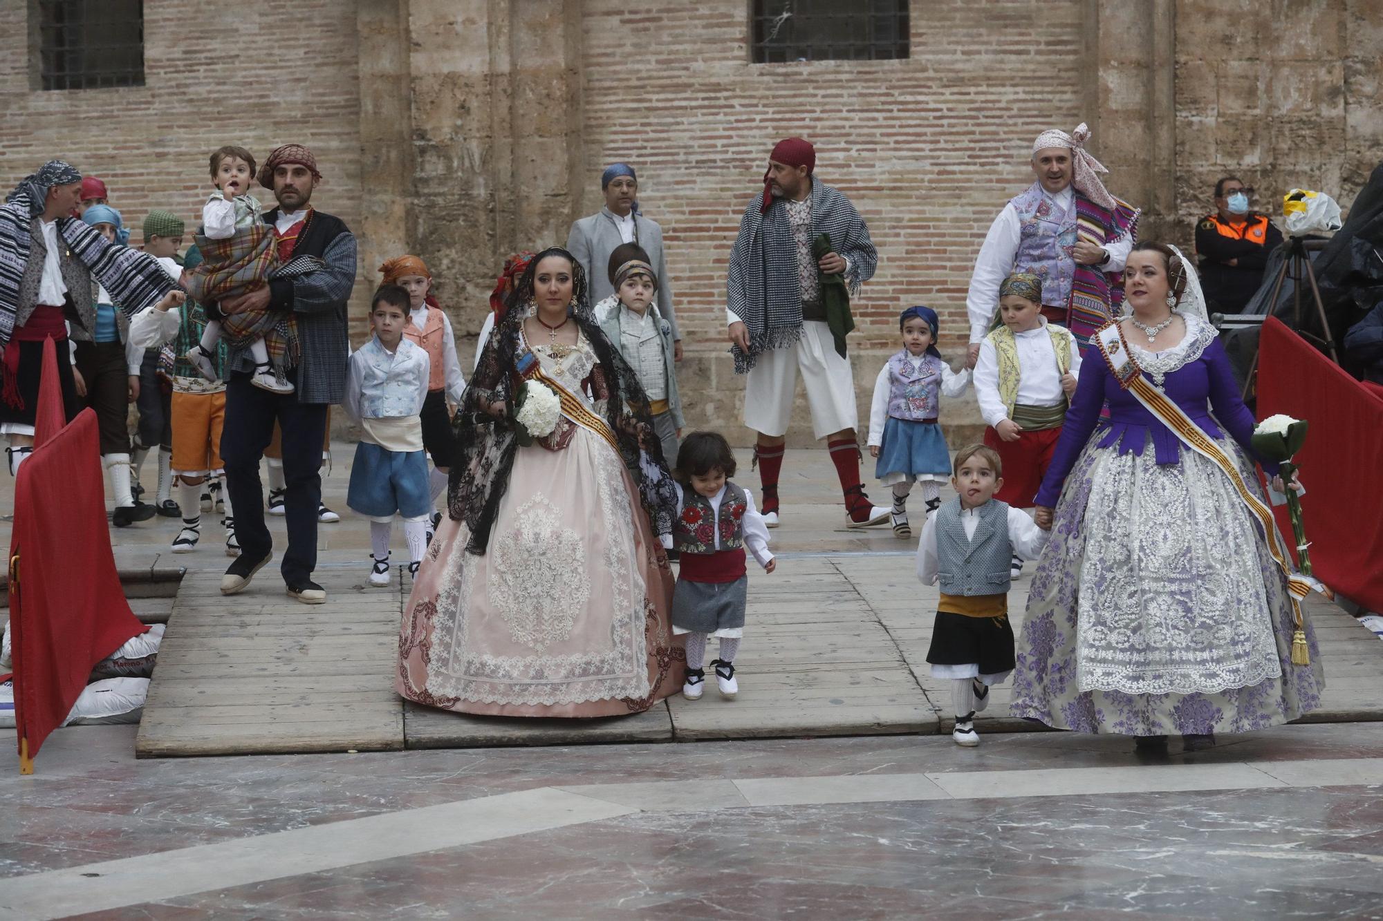
[[[1301,519],[1315,577],[1383,611],[1383,397],[1275,318],[1259,344],[1259,419],[1285,413],[1311,423],[1301,465]],[[1274,509],[1289,535],[1286,506]]]

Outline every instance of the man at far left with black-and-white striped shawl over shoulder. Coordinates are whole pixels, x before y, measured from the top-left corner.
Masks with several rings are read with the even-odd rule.
[[[97,286],[129,318],[155,303],[180,303],[158,261],[108,242],[95,228],[71,217],[82,195],[82,174],[48,160],[24,178],[0,206],[0,433],[15,473],[33,451],[43,342],[58,343],[58,383],[68,418],[79,408],[73,366],[66,358],[66,324],[82,325],[95,304]],[[79,307],[80,306],[80,307]],[[129,456],[122,466],[129,484]],[[112,476],[119,473],[112,467]],[[129,491],[129,485],[126,485]]]

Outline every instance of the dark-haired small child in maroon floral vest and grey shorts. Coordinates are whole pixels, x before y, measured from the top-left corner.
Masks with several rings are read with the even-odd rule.
[[[687,678],[682,696],[697,700],[705,690],[705,643],[721,640],[721,657],[711,662],[722,697],[734,697],[734,654],[744,636],[748,575],[744,548],[772,573],[769,530],[754,509],[754,496],[730,481],[734,452],[715,431],[693,431],[682,441],[676,469],[678,517],[672,546],[680,553],[678,585],[672,592],[672,632],[687,638]]]

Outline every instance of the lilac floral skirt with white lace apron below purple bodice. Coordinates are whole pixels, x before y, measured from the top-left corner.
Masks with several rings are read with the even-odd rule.
[[[1066,478],[1028,596],[1015,716],[1087,733],[1236,733],[1319,707],[1325,673],[1290,661],[1286,579],[1210,461],[1094,447]],[[1245,480],[1257,474],[1232,440]]]

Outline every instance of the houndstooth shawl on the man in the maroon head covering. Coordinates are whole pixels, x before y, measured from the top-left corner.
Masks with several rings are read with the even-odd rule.
[[[765,351],[787,348],[802,336],[802,293],[797,281],[797,242],[787,220],[787,206],[774,201],[759,212],[755,195],[744,210],[740,235],[730,250],[726,278],[726,307],[744,321],[750,332],[748,354],[730,346],[736,373],[748,373]],[[878,250],[869,225],[855,206],[835,188],[812,181],[812,236],[827,234],[837,254],[849,261],[845,282],[851,295],[873,278]]]

